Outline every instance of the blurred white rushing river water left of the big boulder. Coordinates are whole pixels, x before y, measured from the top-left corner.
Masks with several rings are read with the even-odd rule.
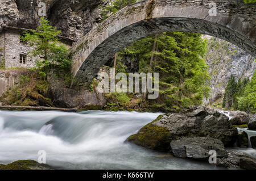
[[[0,163],[38,160],[58,169],[220,169],[125,142],[160,113],[0,111]]]

